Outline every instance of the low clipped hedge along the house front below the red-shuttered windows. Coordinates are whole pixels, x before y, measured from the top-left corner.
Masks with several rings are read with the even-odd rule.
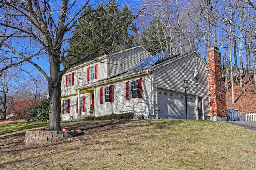
[[[92,117],[92,116],[87,116],[85,117],[84,120],[122,120],[122,119],[133,119],[134,113],[122,113],[122,114],[115,114],[112,113],[110,115],[104,115],[104,116],[99,116],[99,117]]]

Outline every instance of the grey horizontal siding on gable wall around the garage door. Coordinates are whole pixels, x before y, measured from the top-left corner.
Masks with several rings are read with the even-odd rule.
[[[197,57],[197,64],[194,63],[194,57]],[[197,68],[199,72],[199,80],[193,78],[194,73],[192,72]],[[184,88],[182,83],[185,79],[189,82],[189,87],[187,88],[187,94],[200,97],[209,97],[208,88],[208,68],[198,57],[196,53],[192,53],[178,61],[174,61],[166,66],[163,66],[157,70],[153,71],[154,74],[154,112],[156,113],[157,107],[157,94],[156,86],[158,88],[164,88],[167,90],[172,90],[180,93],[184,93]],[[209,102],[204,102],[205,114],[209,115]]]

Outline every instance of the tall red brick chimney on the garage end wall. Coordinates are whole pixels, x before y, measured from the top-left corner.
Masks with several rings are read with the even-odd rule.
[[[210,99],[210,120],[227,120],[226,92],[223,90],[220,49],[209,47],[208,56],[208,77],[209,77],[209,99]]]

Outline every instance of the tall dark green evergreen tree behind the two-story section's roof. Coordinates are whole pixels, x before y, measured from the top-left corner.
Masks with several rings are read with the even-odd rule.
[[[100,10],[99,8],[88,15],[86,15],[86,13],[93,10],[92,7],[90,6],[84,10],[83,14],[86,15],[86,17],[80,20],[78,26],[74,29],[70,42],[70,51],[72,52],[68,54],[70,57],[64,60],[64,67],[66,67],[68,63],[94,51],[94,49],[104,43],[116,29],[122,27],[132,19],[132,11],[129,10],[127,6],[120,10],[115,1],[109,4],[104,10]],[[126,27],[106,43],[100,51],[91,55],[90,59],[131,47],[132,38],[130,37],[130,33],[133,31],[135,31],[134,28]],[[74,51],[76,53],[74,53]],[[82,62],[84,61],[80,63]]]

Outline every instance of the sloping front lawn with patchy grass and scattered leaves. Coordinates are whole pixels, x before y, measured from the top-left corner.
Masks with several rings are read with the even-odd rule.
[[[46,124],[0,125],[1,132],[8,129],[0,136],[0,169],[256,168],[256,132],[225,122],[121,120],[66,125],[85,134],[57,143],[27,145],[24,136],[17,138],[15,131],[40,129]]]

